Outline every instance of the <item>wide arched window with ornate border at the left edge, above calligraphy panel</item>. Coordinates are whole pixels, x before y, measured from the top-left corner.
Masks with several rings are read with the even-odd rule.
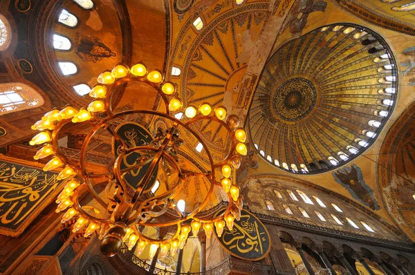
[[[40,107],[43,104],[43,97],[25,84],[0,84],[0,115]]]

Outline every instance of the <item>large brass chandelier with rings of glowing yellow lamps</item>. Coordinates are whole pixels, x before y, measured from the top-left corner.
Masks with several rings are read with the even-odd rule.
[[[100,249],[105,256],[116,255],[123,243],[127,243],[130,250],[136,247],[137,256],[147,246],[151,258],[159,248],[160,257],[167,256],[168,252],[174,256],[179,248],[185,246],[190,231],[197,236],[199,229],[203,229],[210,238],[215,228],[216,234],[221,236],[223,229],[228,227],[232,230],[234,219],[239,220],[241,216],[243,199],[234,178],[236,169],[241,165],[240,155],[246,155],[247,149],[244,144],[246,133],[239,128],[239,118],[228,115],[223,106],[213,109],[208,103],[183,108],[181,99],[174,96],[176,86],[163,79],[160,71],[148,72],[144,64],[136,64],[131,68],[118,64],[113,70],[106,70],[98,77],[99,84],[89,93],[93,97],[89,106],[80,110],[73,106],[66,106],[62,110],[55,108],[32,126],[33,130],[40,133],[35,135],[30,144],[44,144],[34,156],[35,160],[51,158],[44,166],[44,171],[63,167],[57,179],[65,180],[66,185],[56,200],[56,211],[66,211],[62,222],[73,222],[72,231],[83,233],[84,237],[98,234]],[[158,109],[165,110],[113,111],[114,94],[122,90],[122,86],[133,82],[151,86],[161,100]],[[169,122],[169,127],[152,129],[154,137],[150,134],[150,140],[137,144],[122,138],[113,129],[114,122],[120,120],[120,117],[128,118],[131,115],[161,117]],[[198,131],[195,131],[194,125],[201,122],[216,123],[225,129],[227,144],[230,144],[225,156],[217,158]],[[70,124],[87,124],[91,128],[82,144],[79,161],[66,157],[59,147],[59,131]],[[86,164],[86,152],[98,131],[108,132],[118,145],[113,148],[110,173],[92,173]],[[184,135],[192,135],[203,146],[207,161],[204,168],[199,166],[199,171],[181,167],[181,151],[188,151],[189,148],[183,147],[187,142],[183,139]],[[191,158],[188,155],[186,158]],[[127,158],[133,158],[133,164],[129,167],[123,166]],[[196,162],[192,159],[188,161]],[[128,180],[133,171],[140,171],[138,179],[134,178],[135,182]],[[198,180],[192,181],[190,178]],[[186,182],[198,184],[200,180],[210,183],[205,199],[189,213],[179,209],[178,193]],[[94,189],[99,184],[104,184],[101,193]],[[154,191],[156,184],[163,185],[163,189]],[[201,210],[214,196],[214,187],[220,187],[228,195],[228,207],[223,214],[206,218],[207,216],[201,215]],[[81,205],[81,198],[86,193],[91,195],[93,202]],[[167,238],[150,238],[144,234],[147,227],[173,227],[173,231]]]

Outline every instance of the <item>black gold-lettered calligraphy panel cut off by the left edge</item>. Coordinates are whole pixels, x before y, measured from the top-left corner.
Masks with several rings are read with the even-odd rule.
[[[54,199],[57,173],[0,160],[0,234],[19,236]]]

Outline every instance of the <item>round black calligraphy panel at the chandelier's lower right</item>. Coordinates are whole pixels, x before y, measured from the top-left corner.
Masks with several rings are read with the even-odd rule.
[[[225,209],[219,210],[220,215]],[[219,238],[214,232],[221,246],[232,256],[244,260],[261,260],[270,252],[270,234],[262,222],[250,212],[241,211],[241,219],[234,220],[232,231],[226,227]]]

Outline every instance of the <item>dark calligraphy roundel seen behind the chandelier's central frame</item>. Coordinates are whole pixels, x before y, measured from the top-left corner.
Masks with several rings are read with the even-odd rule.
[[[124,140],[124,142],[129,147],[136,147],[136,146],[142,146],[142,145],[149,145],[150,142],[153,140],[153,137],[151,136],[151,133],[147,131],[143,126],[140,124],[136,124],[133,122],[127,122],[124,124],[121,124],[117,127],[116,133]],[[120,155],[120,143],[113,138],[113,154],[115,157],[118,157]],[[136,164],[138,164],[138,160],[140,158],[151,158],[152,155],[145,155],[145,153],[138,153],[133,152],[129,153],[127,157],[124,158],[124,160],[121,161],[120,169],[127,169],[128,167],[132,167]],[[124,180],[126,180],[131,187],[136,189],[140,185],[140,181],[145,176],[145,173],[147,173],[147,170],[149,169],[149,166],[151,165],[151,162],[148,164],[145,164],[144,166],[133,169],[129,173],[126,173],[124,175]],[[156,182],[158,173],[158,167],[153,172],[153,175],[150,178],[149,184],[147,185],[146,191],[148,189],[151,189],[154,182]]]

